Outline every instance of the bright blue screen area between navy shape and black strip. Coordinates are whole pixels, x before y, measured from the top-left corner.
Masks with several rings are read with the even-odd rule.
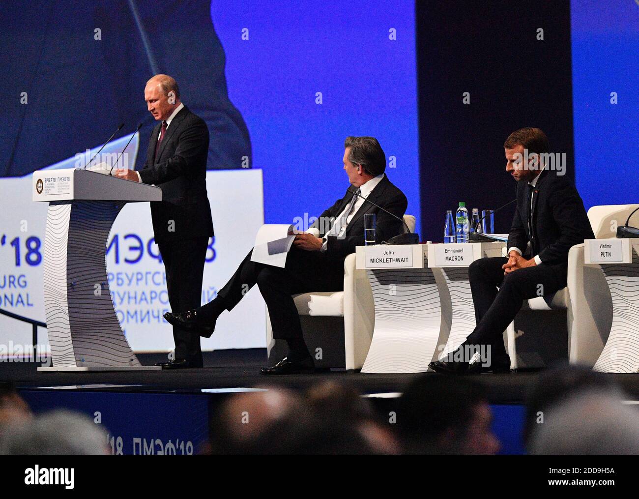
[[[389,178],[419,214],[414,10],[412,1],[213,1],[229,96],[264,170],[266,223],[319,215],[343,196],[348,135],[378,138]]]

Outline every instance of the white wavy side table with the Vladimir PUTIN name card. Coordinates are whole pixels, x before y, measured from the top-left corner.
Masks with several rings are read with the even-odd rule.
[[[639,372],[639,239],[587,239],[584,265],[599,266],[612,297],[612,325],[594,371]]]

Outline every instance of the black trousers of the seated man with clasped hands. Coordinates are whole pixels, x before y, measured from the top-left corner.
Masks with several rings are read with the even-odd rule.
[[[475,260],[468,268],[477,326],[465,344],[491,345],[505,353],[502,334],[520,311],[523,300],[550,295],[567,285],[567,264],[520,268],[504,276],[506,257]],[[497,290],[499,288],[499,290]]]

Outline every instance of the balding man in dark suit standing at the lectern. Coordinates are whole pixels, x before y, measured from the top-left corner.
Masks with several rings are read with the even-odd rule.
[[[187,311],[201,303],[208,238],[213,236],[211,206],[206,196],[206,123],[180,102],[180,89],[167,75],[146,83],[144,100],[158,124],[153,128],[140,171],[118,170],[128,180],[154,184],[162,201],[151,203],[155,242],[166,268],[171,309]],[[175,357],[164,369],[202,367],[199,337],[173,327]]]

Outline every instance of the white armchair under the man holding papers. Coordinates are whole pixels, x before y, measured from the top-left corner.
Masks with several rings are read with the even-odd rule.
[[[415,231],[415,217],[404,215]],[[405,229],[404,229],[405,231]],[[366,270],[355,268],[355,254],[344,260],[344,291],[302,293],[293,297],[300,314],[302,332],[316,367],[360,369],[373,339],[375,309]],[[282,341],[273,339],[266,311],[268,358],[285,355]],[[279,359],[278,359],[279,360]]]

